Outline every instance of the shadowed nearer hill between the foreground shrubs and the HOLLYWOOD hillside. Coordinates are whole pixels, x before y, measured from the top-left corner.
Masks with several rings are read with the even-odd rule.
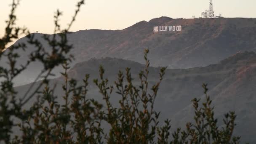
[[[99,65],[105,68],[105,77],[113,84],[117,80],[118,69],[125,71],[125,67],[131,67],[133,83],[139,85],[138,73],[144,69],[143,64],[135,61],[128,61],[115,58],[90,59],[76,64],[69,70],[69,76],[79,80],[85,74],[90,74],[88,97],[102,102],[99,90],[92,83],[94,78],[99,76]],[[160,68],[149,68],[149,85],[156,83],[159,78]],[[195,97],[204,99],[202,84],[207,83],[209,95],[213,99],[215,115],[219,118],[219,125],[225,112],[235,111],[237,114],[237,126],[235,134],[242,136],[242,141],[256,142],[254,121],[256,119],[256,53],[238,52],[233,56],[220,61],[218,64],[211,64],[207,67],[196,67],[189,69],[167,69],[163,82],[160,86],[159,95],[155,103],[157,111],[161,111],[160,121],[166,118],[171,119],[172,130],[177,126],[184,126],[185,122],[193,122],[191,100]],[[57,83],[55,94],[61,101],[61,84],[63,77],[50,81],[51,85]],[[22,96],[30,85],[17,87],[16,90]],[[111,96],[112,103],[118,104],[116,94]],[[32,101],[35,101],[33,98]],[[29,107],[29,104],[26,107]]]

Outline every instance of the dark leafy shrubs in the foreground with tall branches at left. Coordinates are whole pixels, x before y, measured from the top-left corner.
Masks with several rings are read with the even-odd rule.
[[[67,29],[61,30],[59,16],[56,12],[55,30],[53,37],[44,35],[51,46],[51,52],[46,52],[39,40],[27,29],[16,27],[15,10],[19,1],[13,0],[11,14],[7,21],[5,35],[0,39],[0,59],[8,58],[9,67],[0,67],[0,141],[4,143],[108,143],[108,144],[237,144],[240,137],[233,137],[235,127],[235,113],[225,115],[225,126],[219,128],[217,119],[214,118],[213,107],[210,97],[207,95],[207,85],[203,84],[206,101],[199,107],[200,100],[193,99],[195,108],[195,124],[187,123],[186,129],[178,128],[170,133],[171,121],[165,120],[165,125],[159,126],[160,112],[154,110],[154,102],[161,80],[165,75],[166,67],[159,72],[159,80],[151,88],[148,86],[149,60],[145,50],[145,69],[139,73],[140,85],[133,84],[130,68],[126,68],[125,74],[118,72],[115,85],[109,85],[109,80],[104,77],[104,68],[99,68],[99,79],[93,80],[104,99],[100,104],[94,99],[88,99],[89,75],[85,75],[83,85],[70,79],[67,75],[72,56],[69,51],[72,45],[67,42],[67,33],[72,26],[77,13],[80,11],[84,0],[77,3],[75,15]],[[29,61],[17,68],[16,61],[19,59],[19,48],[26,50],[24,43],[12,45],[6,49],[6,45],[21,34],[27,34],[28,42],[35,45],[35,51],[30,53]],[[57,38],[58,37],[58,38]],[[17,98],[17,92],[13,87],[13,79],[24,71],[34,61],[40,61],[44,69],[38,76],[44,75],[43,80],[36,88],[30,87],[21,99]],[[49,86],[48,77],[52,75],[52,69],[62,65],[65,71],[61,75],[65,79],[62,86],[64,91],[64,104],[59,104],[54,95],[55,87]],[[35,80],[37,81],[38,78]],[[35,83],[33,83],[34,85]],[[32,85],[32,86],[33,86]],[[43,91],[40,89],[43,87]],[[115,91],[117,90],[117,91]],[[114,107],[110,102],[110,96],[115,91],[120,95],[119,107]],[[29,95],[29,93],[31,93]],[[23,106],[37,96],[37,101],[28,110]],[[71,99],[71,100],[70,100]],[[13,120],[18,119],[20,123]],[[110,125],[109,131],[102,128],[102,123]],[[12,128],[18,126],[21,136],[13,136]]]

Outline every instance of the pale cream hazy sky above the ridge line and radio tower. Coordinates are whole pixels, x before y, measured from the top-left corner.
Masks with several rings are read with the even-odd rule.
[[[0,0],[0,37],[12,0]],[[86,0],[71,31],[84,29],[124,29],[136,22],[168,16],[192,18],[208,9],[209,0]],[[21,0],[17,9],[19,26],[27,26],[30,32],[51,34],[53,14],[57,8],[63,12],[62,26],[66,26],[74,14],[77,0]],[[256,17],[256,0],[213,0],[213,8],[224,17]]]

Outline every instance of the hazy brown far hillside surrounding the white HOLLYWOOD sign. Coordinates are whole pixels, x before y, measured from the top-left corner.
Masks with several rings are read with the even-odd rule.
[[[181,25],[181,32],[153,32],[153,27]],[[35,33],[41,40],[43,34]],[[69,43],[77,62],[91,58],[115,57],[143,63],[143,51],[149,48],[152,66],[191,68],[216,64],[239,51],[256,51],[256,19],[171,19],[160,17],[141,21],[122,30],[81,30],[70,32]],[[42,40],[43,41],[43,40]],[[26,38],[17,41],[26,42]],[[43,41],[45,47],[47,44]],[[22,55],[24,63],[32,46]],[[4,64],[1,60],[0,64]],[[32,70],[33,69],[33,73]],[[40,65],[34,64],[24,77],[33,77]],[[56,70],[58,74],[59,70]],[[22,81],[22,80],[21,80]]]

